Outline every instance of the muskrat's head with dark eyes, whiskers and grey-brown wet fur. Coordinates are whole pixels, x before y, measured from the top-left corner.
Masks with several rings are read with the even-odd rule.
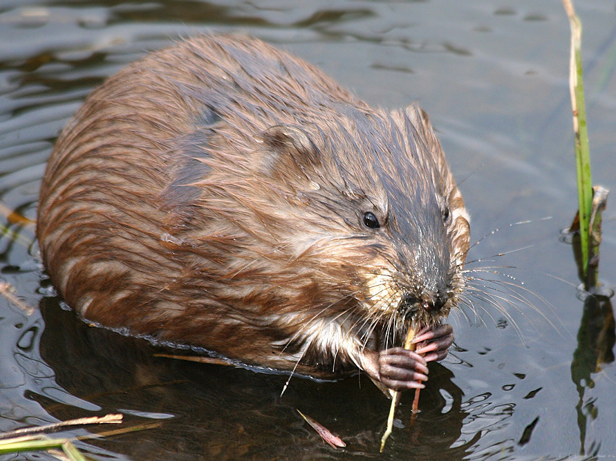
[[[250,187],[265,202],[248,203],[250,233],[269,242],[257,265],[279,309],[379,347],[400,344],[409,322],[447,316],[463,288],[469,218],[419,108],[346,108],[328,125],[273,126],[261,139]]]

